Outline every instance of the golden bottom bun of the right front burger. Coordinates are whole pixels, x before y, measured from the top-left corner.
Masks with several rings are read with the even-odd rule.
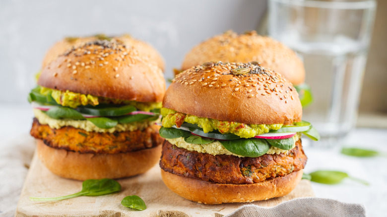
[[[303,169],[283,177],[254,184],[218,184],[175,175],[161,169],[169,189],[188,200],[203,204],[245,203],[289,194],[300,182]]]

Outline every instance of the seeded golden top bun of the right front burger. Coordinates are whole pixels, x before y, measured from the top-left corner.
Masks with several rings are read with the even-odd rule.
[[[240,70],[232,69],[236,67],[250,72],[231,74]],[[249,124],[291,124],[301,121],[302,116],[292,84],[257,63],[206,62],[183,71],[165,93],[163,107]]]

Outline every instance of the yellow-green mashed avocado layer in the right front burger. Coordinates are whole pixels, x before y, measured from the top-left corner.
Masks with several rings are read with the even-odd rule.
[[[245,124],[215,120],[181,113],[167,108],[161,108],[161,115],[163,116],[163,127],[172,127],[173,125],[180,127],[184,122],[187,122],[197,124],[203,129],[204,133],[218,130],[220,133],[232,133],[242,138],[252,138],[256,135],[267,133],[269,130],[277,130],[282,127],[282,124]]]

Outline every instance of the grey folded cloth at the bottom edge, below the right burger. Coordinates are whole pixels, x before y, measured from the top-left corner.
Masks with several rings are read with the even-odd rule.
[[[361,204],[311,197],[293,199],[270,208],[246,205],[224,217],[365,217],[365,212]]]

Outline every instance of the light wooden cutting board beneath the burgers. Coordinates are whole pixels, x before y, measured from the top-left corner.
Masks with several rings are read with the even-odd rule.
[[[186,200],[169,190],[160,176],[160,167],[155,165],[145,174],[119,179],[122,190],[119,193],[77,197],[56,202],[32,202],[29,197],[57,197],[81,190],[82,182],[61,178],[51,173],[35,153],[20,195],[15,216],[42,217],[221,217],[239,207],[249,204],[204,205]],[[144,211],[135,211],[121,205],[121,200],[129,195],[141,197],[146,204]],[[300,184],[289,195],[251,204],[271,207],[300,197],[314,197],[308,180]]]

